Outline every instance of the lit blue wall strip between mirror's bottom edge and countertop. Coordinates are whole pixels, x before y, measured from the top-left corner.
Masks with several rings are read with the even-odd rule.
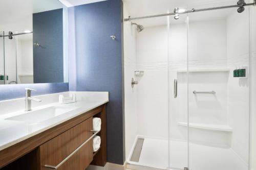
[[[33,88],[34,95],[69,91],[69,83],[0,85],[0,101],[25,98],[25,88]]]

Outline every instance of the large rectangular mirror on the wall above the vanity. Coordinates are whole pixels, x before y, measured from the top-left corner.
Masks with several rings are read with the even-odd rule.
[[[0,84],[68,82],[67,7],[58,0],[1,6]]]

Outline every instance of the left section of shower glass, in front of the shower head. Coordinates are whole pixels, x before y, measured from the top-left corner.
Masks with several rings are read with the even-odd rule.
[[[168,30],[166,17],[134,20],[133,23],[131,25],[131,22],[127,22],[124,25],[125,50],[129,48],[129,53],[125,51],[124,55],[125,73],[129,74],[125,92],[131,90],[136,94],[134,100],[136,100],[137,107],[135,111],[137,117],[131,116],[129,120],[130,115],[126,115],[126,122],[131,121],[133,126],[130,129],[137,130],[128,163],[166,169],[168,167]],[[143,30],[140,29],[142,26]],[[126,42],[129,36],[136,42],[134,51],[132,44]],[[138,82],[133,87],[130,78]]]

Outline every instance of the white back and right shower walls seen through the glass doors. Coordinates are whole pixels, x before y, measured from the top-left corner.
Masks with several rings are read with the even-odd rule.
[[[186,49],[185,22],[174,25],[171,21],[169,47],[166,26],[146,27],[137,34],[136,69],[144,71],[144,76],[138,79],[137,85],[139,135],[167,138],[168,95],[170,95],[170,137],[187,139],[187,128],[177,125],[178,122],[187,122],[187,79],[186,73],[177,74],[177,70],[186,69],[188,50],[189,70],[230,69],[230,71],[189,74],[190,123],[220,124],[233,129],[232,132],[222,132],[190,128],[190,140],[218,147],[231,147],[241,159],[248,163],[249,79],[233,78],[233,70],[237,67],[249,68],[248,19],[248,10],[242,14],[234,10],[227,19],[189,22],[188,49]],[[252,30],[255,30],[254,25],[252,27]],[[256,39],[254,34],[253,38]],[[253,39],[253,59],[255,44],[256,40]],[[167,63],[168,60],[169,63]],[[255,61],[253,64],[256,67]],[[178,79],[177,99],[173,98],[174,79]],[[254,80],[256,83],[256,78]],[[168,84],[169,94],[167,93]],[[217,93],[194,95],[194,90],[215,90]],[[255,141],[254,143],[256,145]],[[253,159],[256,160],[256,156]]]

